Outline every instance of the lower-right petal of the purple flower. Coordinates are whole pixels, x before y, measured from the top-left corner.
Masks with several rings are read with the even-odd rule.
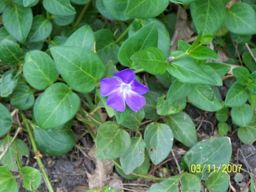
[[[131,92],[125,95],[125,102],[132,111],[137,112],[146,104],[146,99],[141,95]]]

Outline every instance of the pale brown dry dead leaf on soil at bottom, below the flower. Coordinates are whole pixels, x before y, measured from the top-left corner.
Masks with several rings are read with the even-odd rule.
[[[95,170],[93,174],[86,172],[88,177],[88,185],[89,188],[104,188],[107,184],[109,184],[110,174],[113,173],[114,164],[111,161],[100,161],[96,159],[96,147],[93,145],[89,156],[93,159],[93,163],[95,163]]]

